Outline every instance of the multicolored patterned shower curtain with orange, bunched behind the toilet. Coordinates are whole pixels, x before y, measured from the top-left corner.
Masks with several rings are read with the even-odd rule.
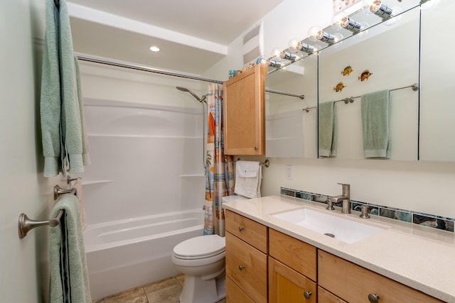
[[[224,155],[223,84],[208,86],[207,154],[205,158],[204,235],[225,235],[221,197],[234,194],[232,156]]]

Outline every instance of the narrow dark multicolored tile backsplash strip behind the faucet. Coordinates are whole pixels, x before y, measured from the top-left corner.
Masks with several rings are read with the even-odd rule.
[[[299,199],[310,200],[327,204],[329,196],[325,194],[316,194],[314,192],[305,192],[299,189],[289,189],[285,187],[280,188],[280,194],[284,194],[289,197],[296,197]],[[410,211],[406,209],[395,209],[392,207],[382,206],[378,204],[371,204],[368,202],[360,202],[351,200],[351,207],[355,211],[360,211],[360,206],[368,206],[368,214],[373,216],[385,216],[387,218],[409,222],[412,224],[419,224],[423,226],[429,226],[432,228],[442,229],[444,231],[454,232],[454,221],[455,219],[446,218],[443,216],[436,216],[433,214],[422,214],[417,211]],[[341,206],[341,203],[335,204]]]

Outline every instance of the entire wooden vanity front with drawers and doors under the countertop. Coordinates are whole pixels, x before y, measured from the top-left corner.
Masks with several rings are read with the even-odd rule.
[[[228,209],[225,217],[228,303],[442,302]]]

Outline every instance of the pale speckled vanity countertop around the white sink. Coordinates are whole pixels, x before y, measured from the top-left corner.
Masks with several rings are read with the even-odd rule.
[[[225,209],[235,211],[237,214],[326,250],[328,253],[445,302],[455,303],[454,233],[380,216],[360,219],[358,211],[353,211],[352,214],[341,214],[339,208],[327,211],[325,206],[325,204],[286,196],[237,200],[223,204]],[[355,243],[345,243],[271,216],[271,214],[300,208],[314,209],[385,228],[385,231]]]

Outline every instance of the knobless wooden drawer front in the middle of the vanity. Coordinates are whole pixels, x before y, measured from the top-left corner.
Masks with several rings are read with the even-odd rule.
[[[316,247],[269,228],[269,255],[316,281]]]

